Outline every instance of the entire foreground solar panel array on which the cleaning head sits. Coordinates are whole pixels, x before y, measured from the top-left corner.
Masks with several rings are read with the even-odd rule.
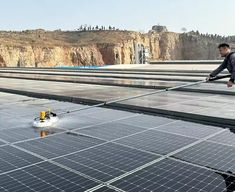
[[[235,190],[233,130],[104,108],[38,130],[38,111],[82,106],[3,93],[0,103],[0,191]]]

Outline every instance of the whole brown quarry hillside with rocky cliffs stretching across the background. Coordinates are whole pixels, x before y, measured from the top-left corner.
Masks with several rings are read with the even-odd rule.
[[[151,60],[219,59],[226,39],[199,33],[173,33],[153,26],[146,34],[131,31],[0,32],[0,67],[102,66],[135,63],[135,44]]]

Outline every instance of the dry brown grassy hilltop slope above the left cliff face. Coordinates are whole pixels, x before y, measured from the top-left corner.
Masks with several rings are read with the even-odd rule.
[[[132,33],[131,31],[45,31],[43,29],[22,32],[0,31],[0,41],[4,45],[85,46],[131,40]]]

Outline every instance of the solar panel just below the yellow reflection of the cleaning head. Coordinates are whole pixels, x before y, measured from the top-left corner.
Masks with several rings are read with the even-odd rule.
[[[16,145],[45,158],[53,158],[86,149],[103,142],[102,140],[79,134],[62,133],[43,139],[20,142]]]

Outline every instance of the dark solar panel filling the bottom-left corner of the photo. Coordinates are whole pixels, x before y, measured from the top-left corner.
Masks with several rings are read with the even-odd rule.
[[[8,174],[0,175],[0,187],[5,191],[85,191],[96,182],[76,173],[43,162]]]

